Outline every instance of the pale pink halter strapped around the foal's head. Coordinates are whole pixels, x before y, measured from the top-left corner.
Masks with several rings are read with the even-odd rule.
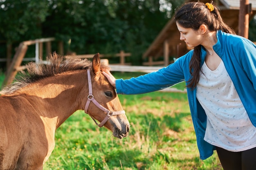
[[[107,108],[104,108],[103,106],[101,106],[101,104],[99,104],[95,99],[94,99],[94,96],[92,95],[92,79],[91,79],[91,75],[90,75],[90,70],[88,69],[87,70],[87,77],[88,77],[88,89],[89,89],[89,95],[88,95],[88,99],[87,99],[87,102],[85,104],[85,113],[87,113],[88,115],[90,115],[88,113],[88,107],[89,107],[89,104],[90,102],[92,101],[99,109],[101,109],[102,111],[104,111],[107,115],[106,117],[103,119],[103,121],[101,121],[100,124],[98,124],[96,122],[96,120],[90,115],[90,117],[92,117],[92,120],[94,120],[95,124],[97,124],[97,126],[99,126],[100,128],[106,124],[106,122],[108,121],[108,119],[111,117],[111,116],[114,116],[114,115],[121,115],[121,114],[125,114],[125,111],[124,110],[121,110],[121,111],[110,111],[108,110]]]

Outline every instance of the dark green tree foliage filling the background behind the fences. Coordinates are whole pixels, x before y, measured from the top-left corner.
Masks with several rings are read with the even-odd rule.
[[[65,42],[65,52],[77,54],[124,50],[132,53],[129,62],[140,64],[144,51],[181,3],[180,0],[163,2],[0,0],[0,36],[7,42],[55,37]],[[165,8],[166,5],[171,8]],[[56,44],[52,45],[56,49]]]

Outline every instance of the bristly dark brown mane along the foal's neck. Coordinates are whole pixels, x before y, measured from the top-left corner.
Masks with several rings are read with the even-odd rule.
[[[27,71],[21,71],[21,73],[16,76],[13,83],[4,87],[4,89],[0,91],[0,94],[11,94],[28,84],[46,77],[91,67],[92,62],[88,59],[61,56],[54,52],[51,56],[47,57],[47,64],[29,62],[26,65]],[[105,66],[103,69],[107,69],[107,67]]]

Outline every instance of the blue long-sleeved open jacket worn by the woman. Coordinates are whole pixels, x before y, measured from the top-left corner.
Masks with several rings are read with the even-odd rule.
[[[249,119],[256,126],[256,46],[253,42],[238,35],[232,35],[222,31],[217,31],[216,35],[218,42],[213,46],[213,50],[221,57],[225,64],[225,68],[243,102]],[[183,81],[187,82],[191,77],[189,73],[189,62],[192,54],[193,50],[159,71],[127,80],[117,79],[117,93],[148,93],[173,86]],[[202,47],[201,66],[205,56],[206,51]],[[200,159],[207,159],[213,154],[213,150],[216,149],[215,146],[204,141],[207,117],[196,98],[196,89],[187,88],[187,95]]]

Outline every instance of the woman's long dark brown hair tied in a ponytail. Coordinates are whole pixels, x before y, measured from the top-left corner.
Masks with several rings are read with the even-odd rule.
[[[209,31],[221,30],[225,33],[236,34],[225,22],[223,22],[219,9],[216,5],[211,3],[214,7],[210,11],[209,7],[202,2],[188,2],[175,12],[176,22],[184,27],[198,30],[202,24],[208,26]],[[189,63],[189,71],[191,79],[188,81],[188,88],[194,89],[199,81],[200,63],[201,63],[201,45],[194,47],[193,56]]]

